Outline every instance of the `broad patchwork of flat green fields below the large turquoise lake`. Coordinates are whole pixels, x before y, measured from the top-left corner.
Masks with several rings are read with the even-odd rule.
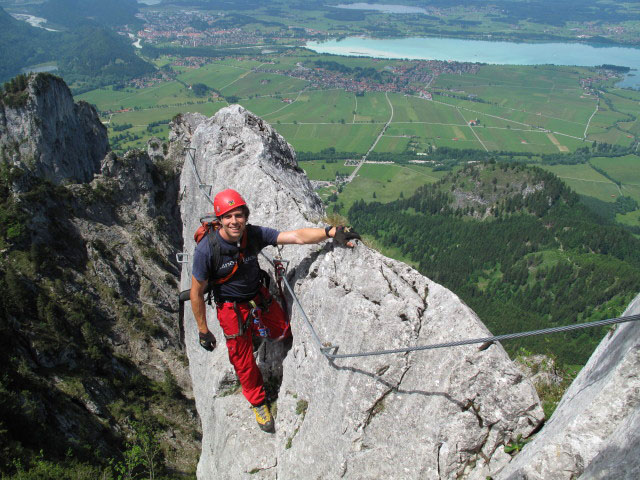
[[[167,68],[172,59],[158,60]],[[432,82],[433,99],[401,93],[322,88],[287,72],[317,61],[378,72],[406,65],[401,60],[316,55],[292,50],[263,61],[225,58],[200,68],[171,67],[174,81],[147,88],[111,87],[78,99],[93,103],[108,126],[132,124],[135,140],[119,148],[141,146],[151,135],[166,138],[167,128],[148,132],[146,125],[167,122],[176,113],[211,115],[226,105],[224,98],[263,117],[297,150],[365,154],[390,121],[376,152],[424,152],[429,146],[550,154],[572,152],[594,140],[630,145],[640,134],[640,95],[621,89],[602,93],[598,101],[584,91],[580,79],[589,70],[552,66],[482,66],[475,74],[443,74]],[[281,73],[256,71],[256,68]],[[197,97],[191,85],[211,92]],[[635,112],[635,113],[634,113]],[[122,134],[110,128],[112,138]],[[586,134],[586,138],[585,138]]]

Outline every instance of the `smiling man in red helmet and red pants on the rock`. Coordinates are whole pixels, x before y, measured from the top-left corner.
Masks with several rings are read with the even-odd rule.
[[[269,290],[262,285],[258,253],[267,245],[313,244],[328,238],[342,246],[353,247],[359,239],[345,227],[301,228],[279,232],[268,227],[249,225],[249,208],[242,196],[227,189],[213,201],[220,228],[210,231],[197,245],[193,255],[191,308],[198,324],[200,345],[212,351],[216,338],[207,327],[205,294],[211,288],[218,321],[242,393],[264,431],[273,431],[273,419],[266,402],[262,374],[253,357],[253,336],[289,338],[287,316]],[[217,265],[213,265],[219,245]],[[217,247],[216,247],[217,248]]]

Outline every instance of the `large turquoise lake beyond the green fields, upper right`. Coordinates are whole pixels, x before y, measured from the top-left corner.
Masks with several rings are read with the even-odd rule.
[[[374,39],[347,37],[327,42],[308,42],[318,53],[407,58],[412,60],[454,60],[496,65],[580,65],[602,64],[630,67],[632,71],[618,83],[640,88],[640,48],[590,45],[584,43],[515,43],[458,38]],[[635,71],[634,71],[635,70]]]

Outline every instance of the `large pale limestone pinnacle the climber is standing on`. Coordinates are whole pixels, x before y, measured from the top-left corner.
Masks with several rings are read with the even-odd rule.
[[[225,188],[244,196],[253,224],[323,225],[321,202],[295,153],[261,119],[231,106],[209,119],[183,116],[173,129],[172,151],[195,149],[180,183],[184,252],[193,252],[198,218],[212,208],[203,193],[212,198]],[[282,255],[320,341],[339,353],[489,335],[455,294],[364,244],[292,245]],[[185,263],[182,289],[190,279]],[[198,345],[186,312],[203,430],[199,478],[484,479],[509,461],[503,444],[542,422],[533,386],[499,345],[329,361],[293,303],[288,298],[294,341],[280,370],[269,359],[285,353],[281,344],[265,343],[257,353],[266,382],[281,380],[272,435],[259,430],[235,388],[215,311],[207,312],[219,340],[212,353]]]

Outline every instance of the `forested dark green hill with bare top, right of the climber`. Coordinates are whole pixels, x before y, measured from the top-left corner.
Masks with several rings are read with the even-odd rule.
[[[640,290],[640,241],[535,167],[468,165],[409,198],[357,202],[349,220],[458,293],[495,334],[615,317]],[[584,364],[603,334],[505,348]]]

